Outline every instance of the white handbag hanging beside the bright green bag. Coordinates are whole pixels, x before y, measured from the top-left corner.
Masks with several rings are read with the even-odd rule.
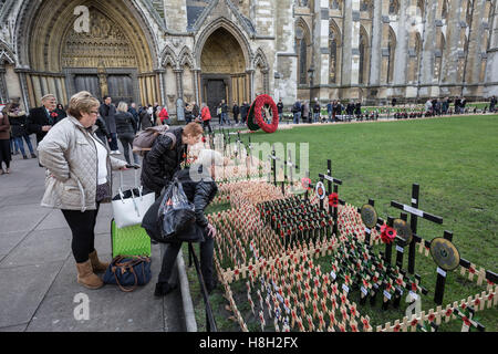
[[[125,228],[142,223],[144,215],[156,200],[155,192],[142,194],[143,186],[138,186],[135,169],[135,188],[123,190],[123,173],[120,171],[118,194],[113,198],[113,214],[116,227]]]

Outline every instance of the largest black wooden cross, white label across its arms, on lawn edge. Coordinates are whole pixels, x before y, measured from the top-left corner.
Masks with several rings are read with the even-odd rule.
[[[418,184],[412,185],[412,206],[407,206],[395,200],[391,200],[391,206],[411,214],[409,226],[412,228],[413,239],[409,243],[408,250],[408,272],[411,274],[415,273],[415,243],[422,241],[422,238],[417,233],[417,220],[423,218],[436,223],[443,223],[443,218],[435,216],[433,214],[425,212],[418,209],[418,194],[421,186]]]

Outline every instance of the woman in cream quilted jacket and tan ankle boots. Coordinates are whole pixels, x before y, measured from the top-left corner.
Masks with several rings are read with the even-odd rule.
[[[72,231],[77,282],[89,289],[104,284],[95,272],[108,267],[94,248],[98,207],[111,201],[112,170],[126,169],[126,163],[110,156],[94,134],[98,106],[90,92],[76,93],[70,100],[68,118],[54,125],[38,146],[46,168],[41,206],[62,210]]]

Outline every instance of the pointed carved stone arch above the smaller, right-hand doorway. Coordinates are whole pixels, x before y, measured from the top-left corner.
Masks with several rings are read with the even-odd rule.
[[[246,70],[250,70],[250,64],[253,59],[253,53],[251,51],[251,46],[249,43],[249,39],[246,37],[246,34],[229,19],[225,17],[220,17],[212,21],[211,23],[208,23],[204,27],[204,30],[200,32],[200,34],[196,39],[196,44],[194,46],[194,59],[195,63],[200,65],[200,56],[203,54],[203,49],[208,40],[208,38],[218,29],[225,29],[227,30],[239,43],[240,48],[242,49],[243,59],[246,62]],[[199,67],[197,67],[199,69]]]

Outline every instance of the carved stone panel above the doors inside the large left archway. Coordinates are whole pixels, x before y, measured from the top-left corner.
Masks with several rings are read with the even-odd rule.
[[[131,41],[115,23],[94,9],[91,9],[90,21],[90,32],[70,31],[62,51],[63,66],[137,66]]]

